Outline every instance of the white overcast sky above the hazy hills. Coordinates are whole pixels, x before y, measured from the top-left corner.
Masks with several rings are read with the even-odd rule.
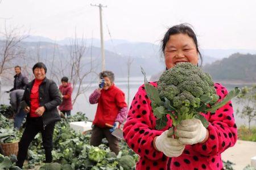
[[[0,0],[1,1],[1,0]],[[256,1],[2,0],[0,30],[6,22],[53,40],[77,36],[100,38],[102,3],[104,39],[159,44],[167,27],[190,23],[201,48],[256,49]],[[110,35],[108,33],[108,28]]]

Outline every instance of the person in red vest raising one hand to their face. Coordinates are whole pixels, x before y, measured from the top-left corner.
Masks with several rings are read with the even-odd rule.
[[[90,145],[98,146],[101,144],[102,138],[106,137],[110,150],[118,154],[119,139],[114,137],[111,132],[126,120],[125,94],[115,86],[112,71],[102,71],[100,79],[99,88],[89,97],[90,104],[98,103]],[[114,128],[109,129],[106,124],[113,125]]]

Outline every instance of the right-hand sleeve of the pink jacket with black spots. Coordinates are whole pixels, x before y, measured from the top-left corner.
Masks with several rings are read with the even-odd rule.
[[[221,84],[214,84],[217,95],[223,99],[228,91]],[[193,150],[201,155],[210,156],[224,152],[227,148],[234,146],[237,141],[237,126],[234,120],[233,107],[229,101],[223,107],[217,109],[215,113],[207,113],[209,126],[209,138],[205,143],[192,145]]]

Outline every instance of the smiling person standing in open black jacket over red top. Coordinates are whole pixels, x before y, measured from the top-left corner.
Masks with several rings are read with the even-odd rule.
[[[57,106],[61,104],[58,87],[53,80],[46,78],[47,68],[38,62],[32,68],[35,79],[28,83],[23,101],[27,106],[26,128],[19,142],[18,162],[16,165],[23,167],[27,156],[28,146],[39,132],[42,134],[43,146],[46,151],[46,163],[52,162],[52,136],[56,121],[60,121]]]

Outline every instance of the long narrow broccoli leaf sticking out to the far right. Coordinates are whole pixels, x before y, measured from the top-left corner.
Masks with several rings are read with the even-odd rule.
[[[236,97],[240,93],[240,91],[241,91],[240,88],[235,87],[234,90],[230,91],[228,93],[228,95],[226,95],[224,97],[224,99],[222,99],[220,102],[214,104],[211,108],[205,109],[205,111],[206,112],[214,112],[214,111],[216,111],[218,108],[221,108],[226,103],[228,103],[228,101],[230,101],[232,98]]]

